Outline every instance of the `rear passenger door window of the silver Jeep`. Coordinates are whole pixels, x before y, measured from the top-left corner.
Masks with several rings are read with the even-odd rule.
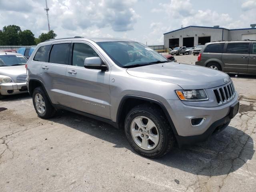
[[[67,64],[69,43],[54,44],[50,53],[50,63]]]

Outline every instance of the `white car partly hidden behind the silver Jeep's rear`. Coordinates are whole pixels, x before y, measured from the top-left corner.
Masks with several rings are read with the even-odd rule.
[[[26,62],[27,59],[21,54],[0,51],[0,99],[28,92]]]

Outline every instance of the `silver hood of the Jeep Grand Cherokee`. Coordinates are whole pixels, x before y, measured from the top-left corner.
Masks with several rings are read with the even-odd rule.
[[[224,79],[230,81],[224,72],[176,62],[128,68],[126,71],[139,78],[177,84],[184,90],[214,88],[226,84]]]

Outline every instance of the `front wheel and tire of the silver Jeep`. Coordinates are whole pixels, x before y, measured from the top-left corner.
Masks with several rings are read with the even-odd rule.
[[[140,127],[136,121],[142,123],[139,123]],[[130,110],[125,119],[124,131],[132,148],[148,158],[165,155],[176,141],[172,128],[162,111],[146,104],[138,105]],[[155,142],[151,140],[152,138]],[[144,145],[143,141],[145,141]]]

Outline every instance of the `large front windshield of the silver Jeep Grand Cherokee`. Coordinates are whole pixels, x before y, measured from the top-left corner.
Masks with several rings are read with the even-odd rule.
[[[123,68],[168,62],[158,52],[138,42],[110,41],[97,44],[118,66]]]

